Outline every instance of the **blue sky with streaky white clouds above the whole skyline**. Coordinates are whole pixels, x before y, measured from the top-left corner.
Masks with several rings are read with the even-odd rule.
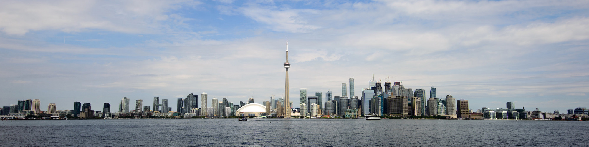
[[[589,107],[589,1],[0,1],[0,20],[1,106],[262,103],[288,35],[293,103],[374,74],[470,109]]]

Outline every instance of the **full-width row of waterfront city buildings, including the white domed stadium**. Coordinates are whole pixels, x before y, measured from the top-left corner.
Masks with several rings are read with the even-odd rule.
[[[357,118],[375,114],[380,116],[410,118],[415,116],[442,116],[450,119],[558,119],[579,120],[587,118],[587,108],[569,109],[567,113],[558,111],[541,112],[538,109],[526,111],[517,109],[514,102],[507,102],[506,108],[481,108],[476,111],[469,109],[468,100],[458,99],[452,95],[437,98],[436,88],[430,88],[429,98],[426,99],[424,89],[405,88],[401,82],[384,82],[374,79],[368,81],[370,88],[363,88],[360,96],[354,91],[354,78],[349,83],[342,83],[342,95],[334,96],[332,91],[315,92],[307,95],[308,89],[299,91],[299,108],[290,109],[292,116],[306,118]],[[92,110],[90,103],[74,102],[73,109],[58,110],[55,103],[49,103],[47,111],[40,110],[39,99],[19,100],[17,104],[0,108],[2,119],[25,118],[35,115],[41,118],[196,118],[196,117],[229,117],[254,116],[281,118],[284,111],[284,98],[270,96],[268,101],[254,103],[250,97],[246,102],[234,103],[228,99],[211,98],[208,94],[198,95],[190,93],[186,98],[178,98],[176,109],[169,106],[168,99],[153,98],[153,105],[144,106],[143,99],[135,99],[135,107],[130,108],[129,98],[123,98],[118,103],[118,111],[111,110],[110,103],[103,103],[101,111]],[[325,100],[325,102],[323,102]],[[200,103],[198,103],[200,102]],[[210,102],[210,105],[209,105]],[[200,104],[200,105],[199,105]],[[293,102],[287,105],[293,108]]]

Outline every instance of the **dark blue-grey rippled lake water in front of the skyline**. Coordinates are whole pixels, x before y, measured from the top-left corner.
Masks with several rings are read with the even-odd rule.
[[[589,146],[589,121],[24,120],[0,131],[1,146]]]

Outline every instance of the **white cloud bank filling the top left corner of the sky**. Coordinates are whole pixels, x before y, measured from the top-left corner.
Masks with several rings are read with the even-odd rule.
[[[0,30],[8,35],[25,35],[39,30],[81,32],[102,29],[124,33],[155,33],[163,28],[170,9],[180,4],[197,5],[198,2],[181,1],[120,1],[108,4],[102,1],[4,1],[0,5]]]

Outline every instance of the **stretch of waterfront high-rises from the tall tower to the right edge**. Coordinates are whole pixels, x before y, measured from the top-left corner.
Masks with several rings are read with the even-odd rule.
[[[405,88],[402,82],[376,81],[369,82],[370,88],[363,88],[362,95],[355,96],[354,78],[349,83],[342,83],[342,95],[333,96],[327,91],[322,98],[322,92],[315,92],[315,96],[308,96],[308,89],[300,89],[300,108],[296,108],[296,115],[308,118],[356,118],[363,115],[380,115],[395,118],[420,118],[436,116],[447,119],[558,119],[580,120],[587,118],[587,109],[575,108],[567,114],[516,109],[514,102],[507,102],[506,109],[481,108],[476,112],[469,109],[468,100],[456,100],[452,95],[438,98],[436,88],[429,91],[426,99],[424,89]],[[326,99],[325,102],[322,102]]]

